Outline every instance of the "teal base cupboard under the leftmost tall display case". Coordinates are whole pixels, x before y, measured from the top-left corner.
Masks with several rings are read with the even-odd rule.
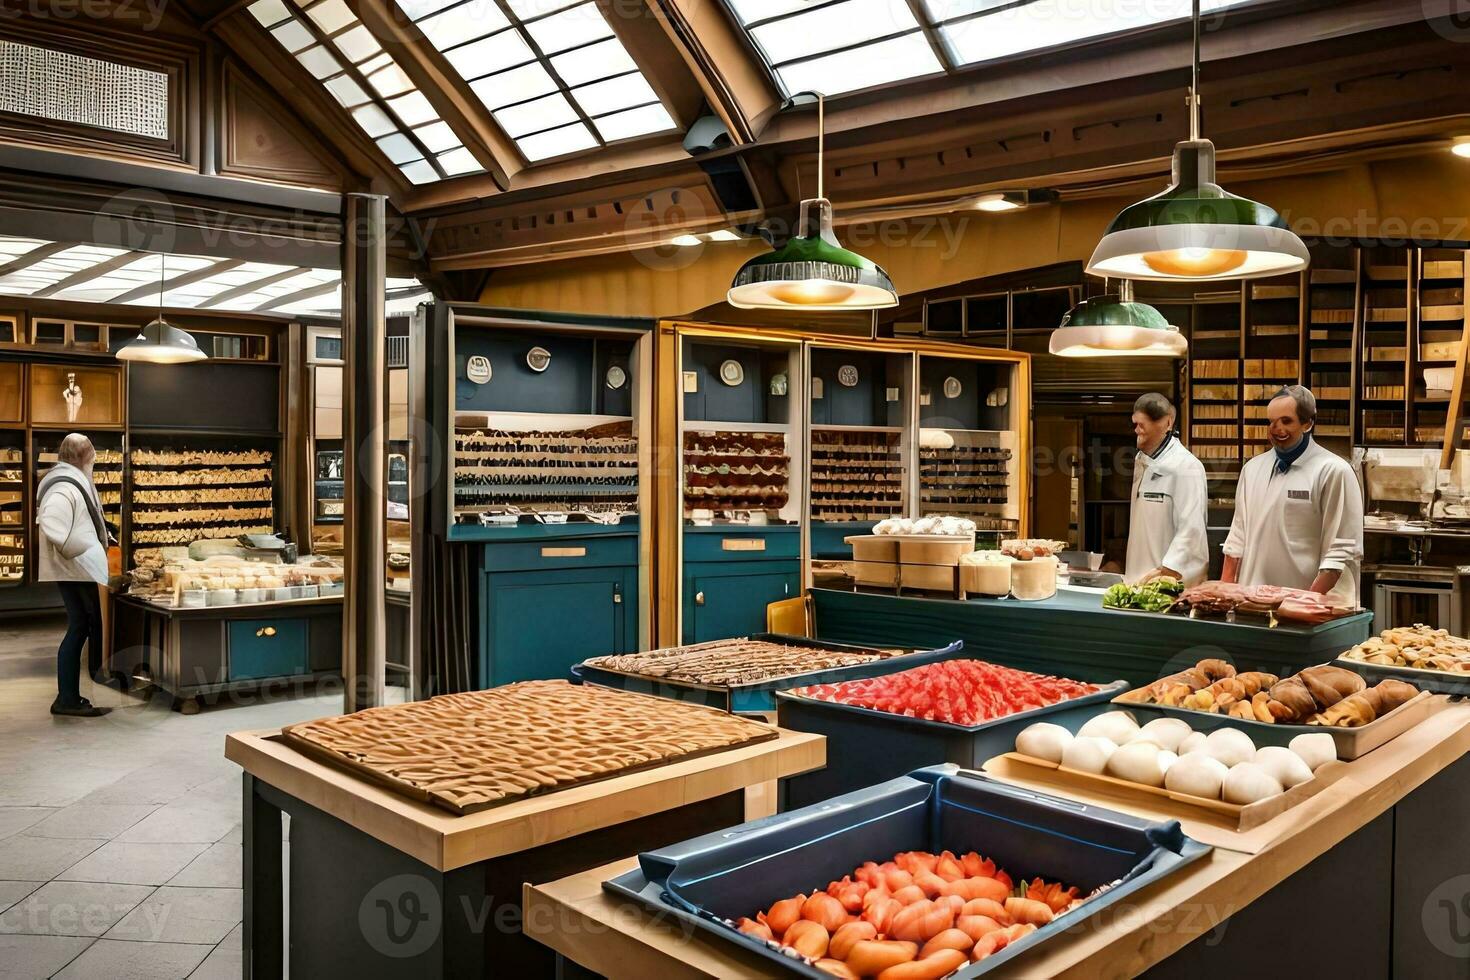
[[[564,679],[588,657],[638,649],[638,529],[494,532],[481,550],[478,686]]]

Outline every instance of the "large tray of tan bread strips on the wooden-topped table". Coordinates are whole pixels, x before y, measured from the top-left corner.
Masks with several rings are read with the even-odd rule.
[[[703,705],[529,680],[291,724],[281,735],[306,755],[463,815],[778,732]]]

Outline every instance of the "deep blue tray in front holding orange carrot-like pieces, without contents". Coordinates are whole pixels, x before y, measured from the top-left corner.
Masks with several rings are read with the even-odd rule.
[[[1017,882],[1044,877],[1101,895],[1058,915],[980,962],[953,974],[979,977],[1092,918],[1127,895],[1210,852],[1175,820],[1151,823],[1101,807],[1036,793],[935,765],[813,807],[745,823],[638,857],[638,868],[603,887],[764,956],[781,971],[831,980],[734,920],[798,892],[823,887],[864,861],[900,851],[979,851]]]

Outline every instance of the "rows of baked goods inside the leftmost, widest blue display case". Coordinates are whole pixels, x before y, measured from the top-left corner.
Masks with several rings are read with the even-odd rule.
[[[628,416],[454,416],[454,513],[617,523],[638,513],[638,439]]]

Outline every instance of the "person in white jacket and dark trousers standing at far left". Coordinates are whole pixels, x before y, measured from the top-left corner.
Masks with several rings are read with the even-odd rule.
[[[51,714],[93,718],[107,708],[94,707],[81,695],[82,644],[88,645],[88,667],[101,670],[101,595],[107,583],[107,525],[93,485],[91,439],[72,433],[62,439],[57,463],[37,491],[35,523],[40,525],[37,570],[41,582],[56,582],[66,605],[66,636],[56,651],[56,701]]]

